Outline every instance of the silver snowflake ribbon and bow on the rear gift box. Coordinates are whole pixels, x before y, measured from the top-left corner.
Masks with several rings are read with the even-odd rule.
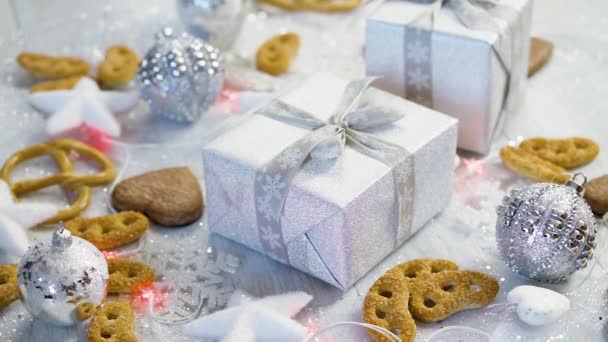
[[[498,40],[492,45],[495,55],[507,73],[507,87],[503,96],[502,109],[514,85],[521,80],[511,79],[513,54],[518,39],[505,42],[498,21],[509,21],[517,12],[508,6],[498,4],[497,0],[407,0],[428,4],[428,10],[414,19],[405,31],[405,94],[404,97],[426,107],[433,107],[433,69],[432,69],[432,35],[435,17],[442,8],[451,10],[458,20],[467,28],[479,31],[498,33]]]

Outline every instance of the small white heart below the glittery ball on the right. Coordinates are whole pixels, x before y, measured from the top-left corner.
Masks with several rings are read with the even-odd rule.
[[[566,296],[537,286],[518,286],[509,292],[507,301],[517,304],[517,316],[530,325],[553,323],[570,310]]]

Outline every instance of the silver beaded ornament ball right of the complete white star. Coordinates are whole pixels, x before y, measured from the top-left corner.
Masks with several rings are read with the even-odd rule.
[[[142,59],[135,85],[150,111],[194,122],[217,100],[224,83],[220,51],[198,38],[164,28]]]

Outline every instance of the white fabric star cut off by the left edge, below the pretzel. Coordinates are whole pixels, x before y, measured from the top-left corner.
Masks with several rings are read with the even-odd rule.
[[[29,245],[25,229],[53,217],[57,211],[50,204],[15,202],[8,184],[0,180],[0,250],[23,256]]]

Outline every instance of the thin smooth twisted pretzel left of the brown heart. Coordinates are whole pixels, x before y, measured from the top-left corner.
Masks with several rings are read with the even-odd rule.
[[[74,172],[74,166],[69,158],[70,152],[77,152],[80,156],[92,159],[101,166],[101,171],[92,175],[78,175]],[[39,179],[28,179],[19,182],[11,181],[11,172],[22,162],[45,156],[50,156],[57,165],[58,173]],[[112,162],[101,152],[74,139],[58,139],[44,144],[36,144],[27,147],[6,160],[0,177],[9,185],[16,198],[31,192],[61,185],[70,191],[77,193],[77,198],[70,207],[59,211],[44,224],[66,221],[78,216],[83,212],[91,201],[90,186],[107,184],[116,177],[116,170]]]

